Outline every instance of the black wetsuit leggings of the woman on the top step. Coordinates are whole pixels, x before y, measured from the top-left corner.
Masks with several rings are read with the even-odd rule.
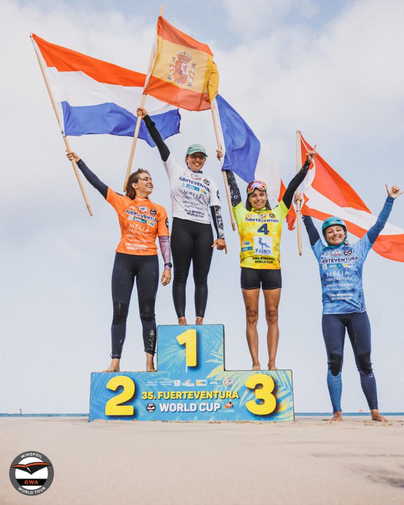
[[[213,254],[210,224],[173,219],[171,251],[174,263],[173,298],[177,317],[185,317],[185,286],[192,260],[195,281],[195,315],[205,316],[208,300],[208,273]]]

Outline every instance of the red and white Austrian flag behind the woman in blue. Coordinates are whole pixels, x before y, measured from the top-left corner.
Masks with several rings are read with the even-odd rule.
[[[311,145],[300,134],[301,159],[311,150]],[[303,215],[322,221],[337,216],[345,221],[350,233],[362,238],[371,228],[377,217],[374,216],[359,194],[317,153],[317,157],[303,181]],[[380,208],[385,196],[380,188]],[[404,230],[386,223],[377,237],[372,249],[380,256],[393,261],[404,262]]]

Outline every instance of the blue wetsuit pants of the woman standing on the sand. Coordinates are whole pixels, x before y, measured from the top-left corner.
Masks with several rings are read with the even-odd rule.
[[[328,358],[327,385],[333,411],[342,411],[341,370],[345,329],[348,331],[349,340],[354,350],[362,390],[368,401],[369,409],[377,409],[376,379],[370,361],[370,323],[367,313],[323,314],[322,327]]]

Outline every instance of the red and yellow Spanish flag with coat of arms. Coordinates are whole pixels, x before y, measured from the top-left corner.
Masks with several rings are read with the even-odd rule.
[[[204,111],[211,108],[218,87],[219,73],[209,46],[160,16],[155,60],[144,94],[188,111]]]

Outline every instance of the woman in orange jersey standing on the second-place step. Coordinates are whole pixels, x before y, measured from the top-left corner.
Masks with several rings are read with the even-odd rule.
[[[111,326],[111,365],[104,372],[119,372],[122,347],[126,335],[130,295],[136,278],[140,321],[143,328],[146,371],[155,371],[156,349],[155,300],[159,285],[159,261],[156,236],[164,259],[161,283],[171,280],[170,238],[167,212],[164,207],[148,199],[153,182],[147,170],[139,169],[129,176],[126,196],[116,193],[91,172],[73,151],[67,153],[74,160],[88,182],[114,207],[121,227],[121,241],[112,271],[112,301],[114,316]]]

